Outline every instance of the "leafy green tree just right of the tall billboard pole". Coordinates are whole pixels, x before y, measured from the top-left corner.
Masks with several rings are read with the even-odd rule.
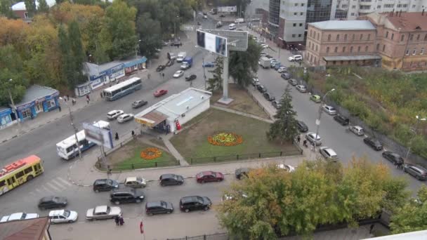
[[[253,72],[258,70],[258,60],[262,48],[249,37],[247,51],[231,51],[228,71],[237,84],[246,87],[254,78]]]

